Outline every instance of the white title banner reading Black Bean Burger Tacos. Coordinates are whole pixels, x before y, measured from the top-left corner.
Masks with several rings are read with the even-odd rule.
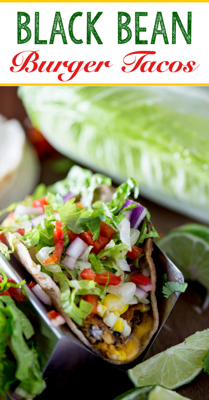
[[[208,3],[0,3],[0,84],[209,84]]]

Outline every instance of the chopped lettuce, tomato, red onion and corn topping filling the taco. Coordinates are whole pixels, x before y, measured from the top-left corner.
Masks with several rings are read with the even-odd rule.
[[[135,179],[128,179],[114,194],[109,189],[111,195],[106,201],[96,200],[95,189],[100,184],[111,185],[111,180],[73,167],[66,180],[49,188],[39,185],[32,196],[7,208],[13,212],[10,226],[0,230],[14,233],[11,250],[0,242],[0,251],[9,258],[14,251],[12,237],[18,237],[26,248],[34,249],[41,271],[58,283],[64,312],[76,324],[82,326],[90,314],[91,318],[97,314],[112,330],[126,337],[131,328],[122,314],[130,304],[149,303],[147,296],[153,288],[149,278],[140,274],[143,248],[137,244],[156,236],[156,232],[153,229],[147,233],[147,210],[128,198],[133,188],[135,198],[138,195]],[[130,260],[134,260],[136,274],[129,275],[133,272]],[[136,288],[138,284],[141,289]],[[42,302],[51,304],[38,284],[30,282],[29,287]],[[7,291],[10,294],[10,288],[2,286],[2,292]],[[113,309],[115,298],[117,309]],[[55,322],[61,317],[55,313],[48,316],[57,327],[64,322]]]

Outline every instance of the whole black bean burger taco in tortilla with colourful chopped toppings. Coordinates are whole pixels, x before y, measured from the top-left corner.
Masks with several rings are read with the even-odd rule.
[[[145,207],[129,199],[132,188],[137,198],[133,178],[114,189],[109,178],[74,166],[65,180],[14,205],[1,227],[11,249],[4,252],[33,276],[37,296],[113,364],[143,352],[159,323],[157,232]]]

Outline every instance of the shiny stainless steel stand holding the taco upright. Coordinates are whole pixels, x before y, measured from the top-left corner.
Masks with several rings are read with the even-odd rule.
[[[125,371],[139,364],[145,356],[146,358],[149,356],[149,349],[179,296],[175,293],[168,299],[162,296],[163,274],[167,274],[167,280],[180,283],[184,281],[178,268],[155,244],[152,257],[157,271],[156,296],[159,328],[145,351],[137,359],[119,367],[109,364],[94,354],[67,326],[59,329],[52,328],[50,320],[46,316],[47,308],[24,285],[26,301],[18,303],[18,307],[25,312],[35,328],[34,340],[40,352],[40,363],[47,383],[47,389],[38,397],[39,400],[44,400],[49,396],[52,399],[57,396],[64,398],[64,394],[69,397],[71,395],[74,397],[76,394],[78,399],[89,396],[92,400],[98,398],[111,400],[133,387]],[[27,283],[31,281],[30,274],[14,256],[7,261],[0,254],[0,268],[16,282],[23,279]]]

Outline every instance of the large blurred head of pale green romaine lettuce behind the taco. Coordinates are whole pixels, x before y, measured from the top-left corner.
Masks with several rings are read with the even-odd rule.
[[[61,153],[116,182],[133,176],[143,196],[209,222],[203,90],[26,86],[18,93],[32,124]]]

